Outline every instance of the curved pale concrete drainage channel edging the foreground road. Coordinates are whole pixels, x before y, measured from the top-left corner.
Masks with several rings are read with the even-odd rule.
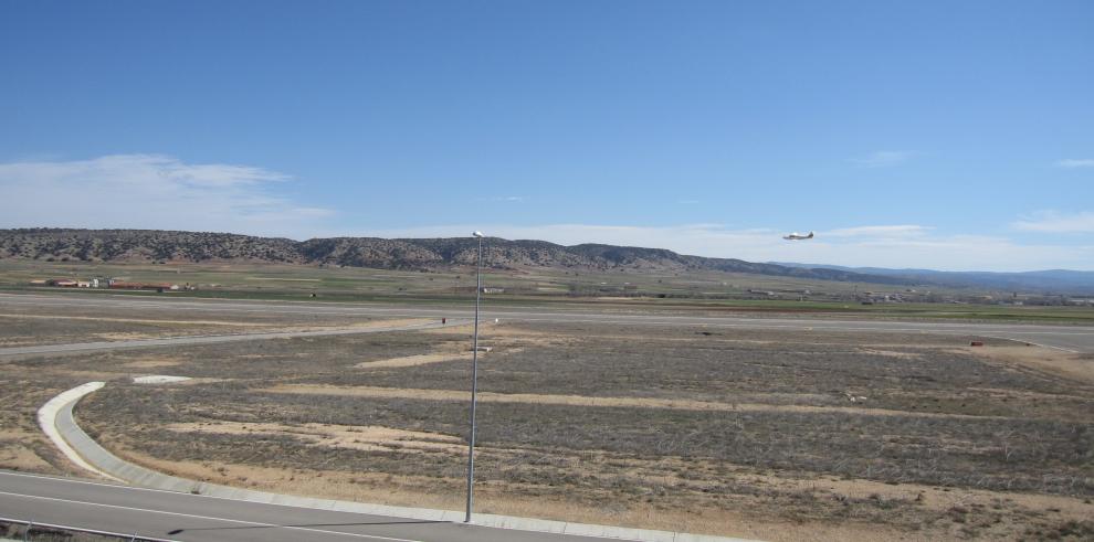
[[[73,463],[76,463],[76,465],[80,465],[82,468],[96,475],[144,488],[197,493],[255,503],[365,513],[423,521],[450,523],[460,523],[463,521],[463,512],[451,510],[389,507],[383,504],[368,504],[362,502],[252,491],[249,489],[232,488],[228,486],[178,478],[144,468],[139,465],[134,465],[102,447],[80,428],[73,417],[72,411],[76,403],[84,396],[102,389],[103,385],[103,382],[88,382],[87,384],[76,386],[57,395],[39,411],[39,422],[42,424],[42,429],[50,435],[50,438],[57,444],[57,447],[65,453],[65,456],[72,458]],[[54,435],[56,435],[55,438]],[[538,520],[486,513],[476,513],[474,516],[474,524],[491,528],[516,529],[522,531],[539,531],[556,534],[649,542],[747,542],[744,539],[725,536],[654,531],[648,529],[628,529],[621,527],[571,523],[567,521]]]

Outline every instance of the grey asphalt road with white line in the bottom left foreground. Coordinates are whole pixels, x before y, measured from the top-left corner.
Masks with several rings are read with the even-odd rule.
[[[0,471],[0,516],[183,541],[603,542]]]

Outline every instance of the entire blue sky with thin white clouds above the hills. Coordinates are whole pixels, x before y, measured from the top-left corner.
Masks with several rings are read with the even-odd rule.
[[[1091,28],[1085,1],[3,1],[0,227],[1094,269]]]

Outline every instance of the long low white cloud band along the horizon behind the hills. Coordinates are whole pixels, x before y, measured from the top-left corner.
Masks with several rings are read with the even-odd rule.
[[[1023,244],[1003,236],[943,235],[928,226],[852,226],[817,232],[811,241],[787,242],[774,229],[728,229],[718,224],[618,226],[589,224],[443,225],[376,230],[381,237],[465,236],[472,230],[517,240],[562,245],[607,243],[669,248],[681,254],[750,262],[801,262],[855,267],[918,267],[943,270],[1094,269],[1094,245]],[[846,234],[846,233],[853,234]]]

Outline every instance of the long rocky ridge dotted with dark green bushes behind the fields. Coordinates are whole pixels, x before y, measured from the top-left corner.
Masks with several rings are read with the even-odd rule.
[[[486,240],[485,264],[495,268],[555,267],[619,270],[720,270],[827,280],[909,284],[905,278],[842,269],[756,264],[684,256],[663,248],[545,241]],[[473,265],[470,237],[385,240],[333,237],[297,242],[227,233],[157,230],[0,230],[0,258],[87,262],[270,262],[389,269]]]

